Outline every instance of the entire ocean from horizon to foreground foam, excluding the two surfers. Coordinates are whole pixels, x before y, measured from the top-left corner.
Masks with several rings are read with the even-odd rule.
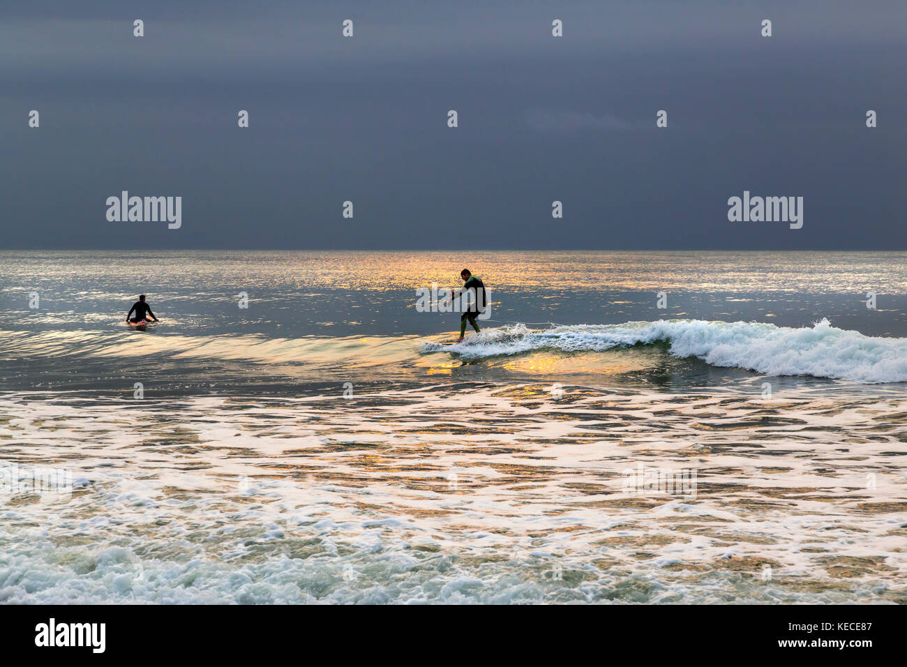
[[[0,252],[0,602],[903,603],[905,260]]]

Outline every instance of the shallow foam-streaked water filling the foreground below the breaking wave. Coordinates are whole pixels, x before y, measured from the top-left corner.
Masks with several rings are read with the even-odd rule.
[[[903,603],[904,417],[855,386],[7,394],[4,460],[73,488],[2,498],[0,601]]]

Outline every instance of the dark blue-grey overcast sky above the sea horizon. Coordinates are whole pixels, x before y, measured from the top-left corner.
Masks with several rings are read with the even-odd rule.
[[[0,247],[904,250],[905,64],[904,0],[5,3]]]

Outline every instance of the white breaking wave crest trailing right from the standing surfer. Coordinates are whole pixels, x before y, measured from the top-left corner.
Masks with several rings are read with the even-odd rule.
[[[489,358],[537,349],[604,351],[656,342],[668,343],[670,354],[678,358],[697,357],[712,366],[747,368],[766,375],[808,375],[865,384],[907,382],[907,338],[864,336],[836,329],[827,319],[801,329],[700,319],[545,330],[517,324],[485,330],[452,346],[427,343],[423,351]]]

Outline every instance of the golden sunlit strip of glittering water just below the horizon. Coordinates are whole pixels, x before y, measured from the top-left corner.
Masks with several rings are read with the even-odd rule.
[[[48,265],[46,251],[2,251],[0,271],[24,284],[41,279],[80,285],[86,275],[115,271],[102,251],[59,251]],[[552,290],[567,289],[689,289],[703,291],[762,291],[772,285],[789,293],[859,292],[867,282],[878,290],[897,292],[907,280],[907,253],[860,251],[596,251],[525,250],[475,252],[467,262],[495,290],[541,289],[542,299],[557,299]],[[128,253],[127,253],[127,256]],[[161,275],[179,276],[208,284],[229,261],[237,275],[254,276],[261,289],[291,287],[310,296],[307,277],[317,276],[322,289],[390,291],[428,287],[460,287],[463,253],[453,251],[249,251],[237,256],[219,250],[160,252],[155,258]],[[15,269],[13,269],[15,267]],[[395,280],[383,278],[394,267]],[[23,275],[24,274],[24,275]],[[4,276],[6,277],[6,276]],[[77,292],[91,299],[132,299],[132,295],[87,285]],[[80,298],[82,298],[80,297]],[[413,297],[415,299],[415,296]],[[127,305],[128,308],[128,305]],[[352,305],[351,308],[361,308]]]

